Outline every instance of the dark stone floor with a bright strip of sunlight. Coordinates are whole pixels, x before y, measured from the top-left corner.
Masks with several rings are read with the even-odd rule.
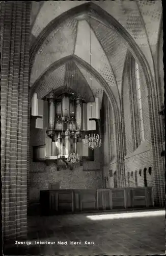
[[[33,244],[29,248],[22,245],[22,255],[164,254],[165,211],[30,217],[28,236]],[[35,241],[54,242],[54,245],[35,245]],[[80,244],[72,245],[72,241]]]

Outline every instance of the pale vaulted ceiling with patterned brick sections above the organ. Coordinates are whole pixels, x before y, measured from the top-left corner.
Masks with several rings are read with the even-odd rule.
[[[153,55],[156,52],[162,14],[160,1],[89,1],[101,12],[111,15],[120,30],[127,32],[146,57],[154,75]],[[97,12],[89,9],[65,12],[86,4],[87,1],[47,1],[32,2],[31,15],[31,55],[32,70],[30,86],[36,84],[39,96],[44,97],[52,89],[68,87],[86,100],[94,96],[102,99],[102,84],[93,76],[90,64],[90,29],[92,49],[92,69],[108,86],[120,104],[122,75],[127,50],[132,52],[130,39],[113,24],[108,24]],[[74,10],[74,9],[73,9]],[[81,10],[81,8],[80,8]],[[91,25],[91,26],[90,26]],[[132,52],[133,54],[133,52]],[[68,57],[66,60],[65,57]],[[73,59],[73,56],[76,58]],[[63,61],[64,60],[64,61]],[[58,62],[60,62],[58,64]],[[90,66],[88,66],[90,67]],[[74,79],[72,80],[72,74]],[[88,92],[88,93],[87,93]]]

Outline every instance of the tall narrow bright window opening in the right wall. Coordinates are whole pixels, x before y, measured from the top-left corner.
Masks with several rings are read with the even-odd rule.
[[[144,141],[145,135],[144,135],[144,121],[143,121],[141,88],[140,88],[140,72],[139,72],[139,65],[137,63],[135,63],[135,80],[136,80],[137,108],[139,111],[140,140]]]

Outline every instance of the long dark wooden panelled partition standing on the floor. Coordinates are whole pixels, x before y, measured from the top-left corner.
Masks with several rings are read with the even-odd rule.
[[[152,188],[41,190],[40,206],[44,215],[150,207],[153,206]]]

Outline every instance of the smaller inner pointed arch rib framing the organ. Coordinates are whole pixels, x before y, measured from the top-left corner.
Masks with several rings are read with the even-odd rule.
[[[124,168],[121,166],[124,166],[122,161],[122,148],[123,145],[121,143],[121,119],[120,119],[120,110],[118,108],[118,104],[116,101],[116,98],[112,92],[112,89],[108,86],[107,82],[104,80],[104,78],[93,68],[87,63],[86,61],[82,60],[76,55],[69,55],[67,57],[64,57],[56,62],[54,62],[48,69],[39,77],[39,79],[33,84],[32,88],[30,89],[30,99],[32,98],[32,95],[34,92],[36,92],[38,85],[42,81],[42,79],[53,72],[55,69],[63,65],[64,63],[73,60],[74,62],[78,63],[82,68],[84,68],[87,72],[92,73],[92,76],[95,77],[95,79],[101,84],[102,88],[104,89],[109,101],[112,103],[113,106],[113,111],[115,115],[115,122],[116,122],[116,139],[118,141],[118,146],[117,146],[117,169],[118,169],[118,179],[120,180],[121,186],[125,186],[125,174],[124,174]]]

